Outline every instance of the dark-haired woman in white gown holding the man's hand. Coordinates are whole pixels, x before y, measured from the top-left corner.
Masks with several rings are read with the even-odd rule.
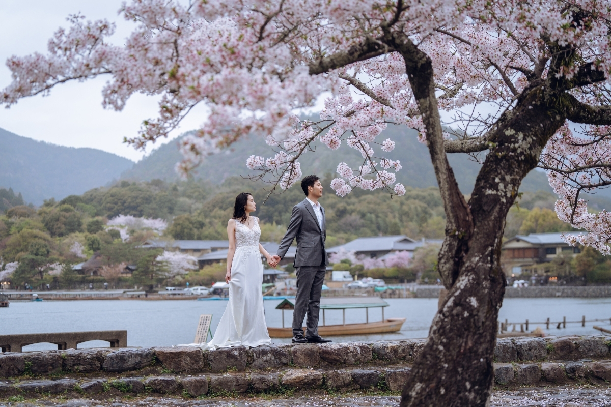
[[[256,209],[250,193],[243,192],[235,198],[233,218],[227,223],[225,282],[229,284],[229,302],[208,349],[271,344],[263,313],[261,254],[271,267],[276,267],[277,262],[259,243],[259,220],[251,216]]]

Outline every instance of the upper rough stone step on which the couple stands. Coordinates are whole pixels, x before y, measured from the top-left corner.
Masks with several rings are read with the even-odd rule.
[[[56,375],[59,372],[123,373],[162,367],[174,373],[219,373],[229,370],[311,367],[339,369],[376,364],[413,363],[425,340],[392,340],[331,344],[286,344],[202,351],[194,347],[70,349],[0,353],[0,377]],[[577,361],[611,357],[611,336],[516,337],[499,339],[495,362]]]

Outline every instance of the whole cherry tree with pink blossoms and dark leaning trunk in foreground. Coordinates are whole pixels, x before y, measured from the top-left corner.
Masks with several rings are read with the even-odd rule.
[[[134,0],[124,46],[108,21],[70,18],[49,53],[12,57],[10,106],[54,85],[106,74],[104,106],[120,110],[135,92],[158,95],[159,115],[126,140],[137,148],[176,128],[197,104],[210,115],[182,141],[187,172],[246,134],[265,137],[273,157],[252,156],[254,176],[282,189],[299,178],[313,140],[360,153],[339,163],[332,188],[403,195],[386,159],[387,124],[420,132],[446,215],[438,269],[449,294],[404,387],[402,406],[485,406],[496,323],[505,292],[500,247],[522,179],[541,165],[560,197],[558,216],[584,228],[567,237],[609,253],[610,215],[587,212],[584,193],[611,184],[609,1],[590,0]],[[296,109],[326,96],[318,121]],[[486,106],[496,113],[483,113]],[[456,115],[444,132],[439,110]],[[580,124],[573,134],[569,122]],[[577,126],[579,127],[579,126]],[[469,201],[447,153],[482,161]]]

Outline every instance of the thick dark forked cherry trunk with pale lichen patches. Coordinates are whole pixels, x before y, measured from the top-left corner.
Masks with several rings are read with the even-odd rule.
[[[419,75],[411,76],[410,63],[406,65],[421,112],[433,109],[434,95],[425,97],[418,83],[426,76],[426,67],[420,64]],[[536,167],[541,150],[566,117],[552,114],[548,106],[555,103],[544,101],[548,96],[538,88],[527,92],[512,112],[500,118],[491,140],[494,147],[478,174],[467,210],[458,199],[452,169],[443,168],[445,153],[440,156],[435,147],[442,142],[441,134],[427,127],[431,159],[442,162],[434,168],[437,179],[445,180],[439,185],[447,189],[441,195],[452,222],[439,254],[440,273],[449,292],[404,387],[402,407],[489,403],[497,319],[506,285],[500,267],[505,217],[522,179]]]

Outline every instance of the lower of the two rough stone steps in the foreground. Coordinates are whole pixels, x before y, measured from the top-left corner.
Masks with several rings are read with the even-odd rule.
[[[290,390],[332,391],[387,390],[399,392],[411,373],[409,366],[368,367],[367,369],[323,370],[297,368],[275,372],[231,372],[210,375],[159,375],[148,377],[88,378],[76,380],[24,380],[0,382],[0,399],[21,394],[101,394],[115,389],[124,394],[225,395],[241,393],[282,393]],[[611,380],[611,360],[596,362],[541,362],[494,364],[495,382],[501,386],[575,383],[583,380]]]

